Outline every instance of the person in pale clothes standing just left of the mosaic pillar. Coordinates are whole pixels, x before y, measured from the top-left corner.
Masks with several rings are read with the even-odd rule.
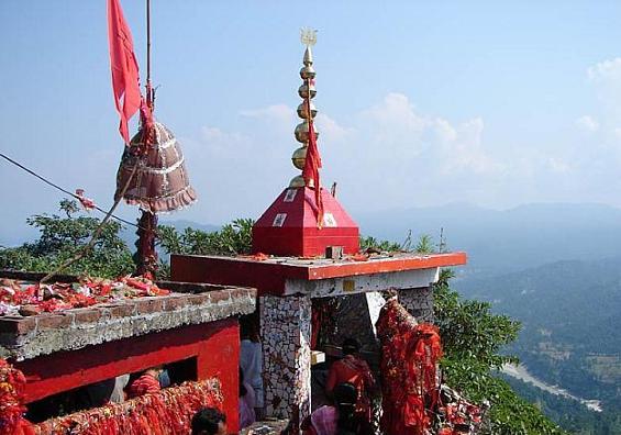
[[[263,419],[263,347],[259,341],[255,319],[247,317],[241,322],[240,332],[242,344],[240,349],[240,366],[244,378],[255,393],[255,415]]]

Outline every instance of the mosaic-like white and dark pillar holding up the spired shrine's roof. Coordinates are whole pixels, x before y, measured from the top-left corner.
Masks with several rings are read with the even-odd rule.
[[[265,295],[259,310],[266,413],[299,425],[310,413],[311,300]]]

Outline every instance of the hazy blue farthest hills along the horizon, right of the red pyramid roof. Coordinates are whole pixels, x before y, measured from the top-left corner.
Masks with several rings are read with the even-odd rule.
[[[353,213],[365,235],[402,242],[439,238],[466,250],[466,276],[492,276],[564,259],[592,259],[621,253],[621,210],[601,204],[542,203],[504,211],[467,203],[436,208]]]

